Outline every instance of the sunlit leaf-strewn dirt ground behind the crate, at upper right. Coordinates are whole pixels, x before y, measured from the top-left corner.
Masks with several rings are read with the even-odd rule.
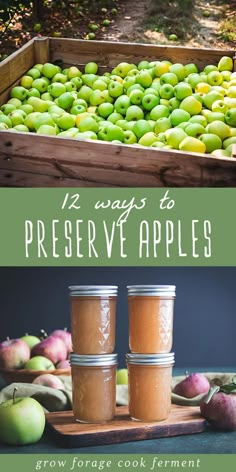
[[[143,19],[150,10],[152,1],[129,0],[126,2],[116,22],[111,25],[104,37],[113,41],[173,44],[173,41],[169,41],[162,31],[145,30],[144,28]],[[219,38],[219,28],[222,19],[226,15],[232,17],[236,14],[236,2],[230,4],[230,2],[219,2],[217,0],[209,2],[195,0],[193,3],[192,19],[191,21],[188,20],[186,34],[183,38],[178,39],[176,44],[189,47],[220,47],[224,45],[227,48],[227,43]],[[232,8],[233,3],[235,4],[235,10]],[[166,8],[166,17],[168,17],[168,7]],[[177,21],[178,18],[176,18]],[[179,21],[184,22],[184,17],[179,18]],[[173,33],[175,33],[174,21]],[[229,48],[232,47],[232,43],[233,41],[229,41]]]

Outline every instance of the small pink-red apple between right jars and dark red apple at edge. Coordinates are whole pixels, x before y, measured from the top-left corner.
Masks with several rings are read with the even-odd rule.
[[[208,392],[209,388],[210,384],[205,375],[194,373],[179,382],[174,388],[174,393],[181,397],[194,398]]]

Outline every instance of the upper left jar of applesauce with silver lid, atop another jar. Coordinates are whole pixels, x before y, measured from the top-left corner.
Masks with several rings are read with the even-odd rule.
[[[116,286],[69,287],[71,335],[76,354],[110,354],[115,348]]]

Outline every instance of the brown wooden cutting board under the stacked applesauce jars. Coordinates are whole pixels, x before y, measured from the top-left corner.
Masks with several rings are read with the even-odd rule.
[[[48,429],[63,447],[115,444],[206,430],[206,421],[201,417],[199,407],[179,405],[172,405],[169,418],[160,423],[133,421],[126,406],[118,407],[114,420],[106,424],[78,423],[72,411],[48,413],[46,418]]]

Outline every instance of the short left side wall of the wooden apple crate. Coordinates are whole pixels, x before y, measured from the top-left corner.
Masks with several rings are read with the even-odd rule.
[[[19,51],[14,52],[4,59],[0,64],[0,95],[14,82],[20,79],[24,73],[35,63],[34,39],[22,46]]]

